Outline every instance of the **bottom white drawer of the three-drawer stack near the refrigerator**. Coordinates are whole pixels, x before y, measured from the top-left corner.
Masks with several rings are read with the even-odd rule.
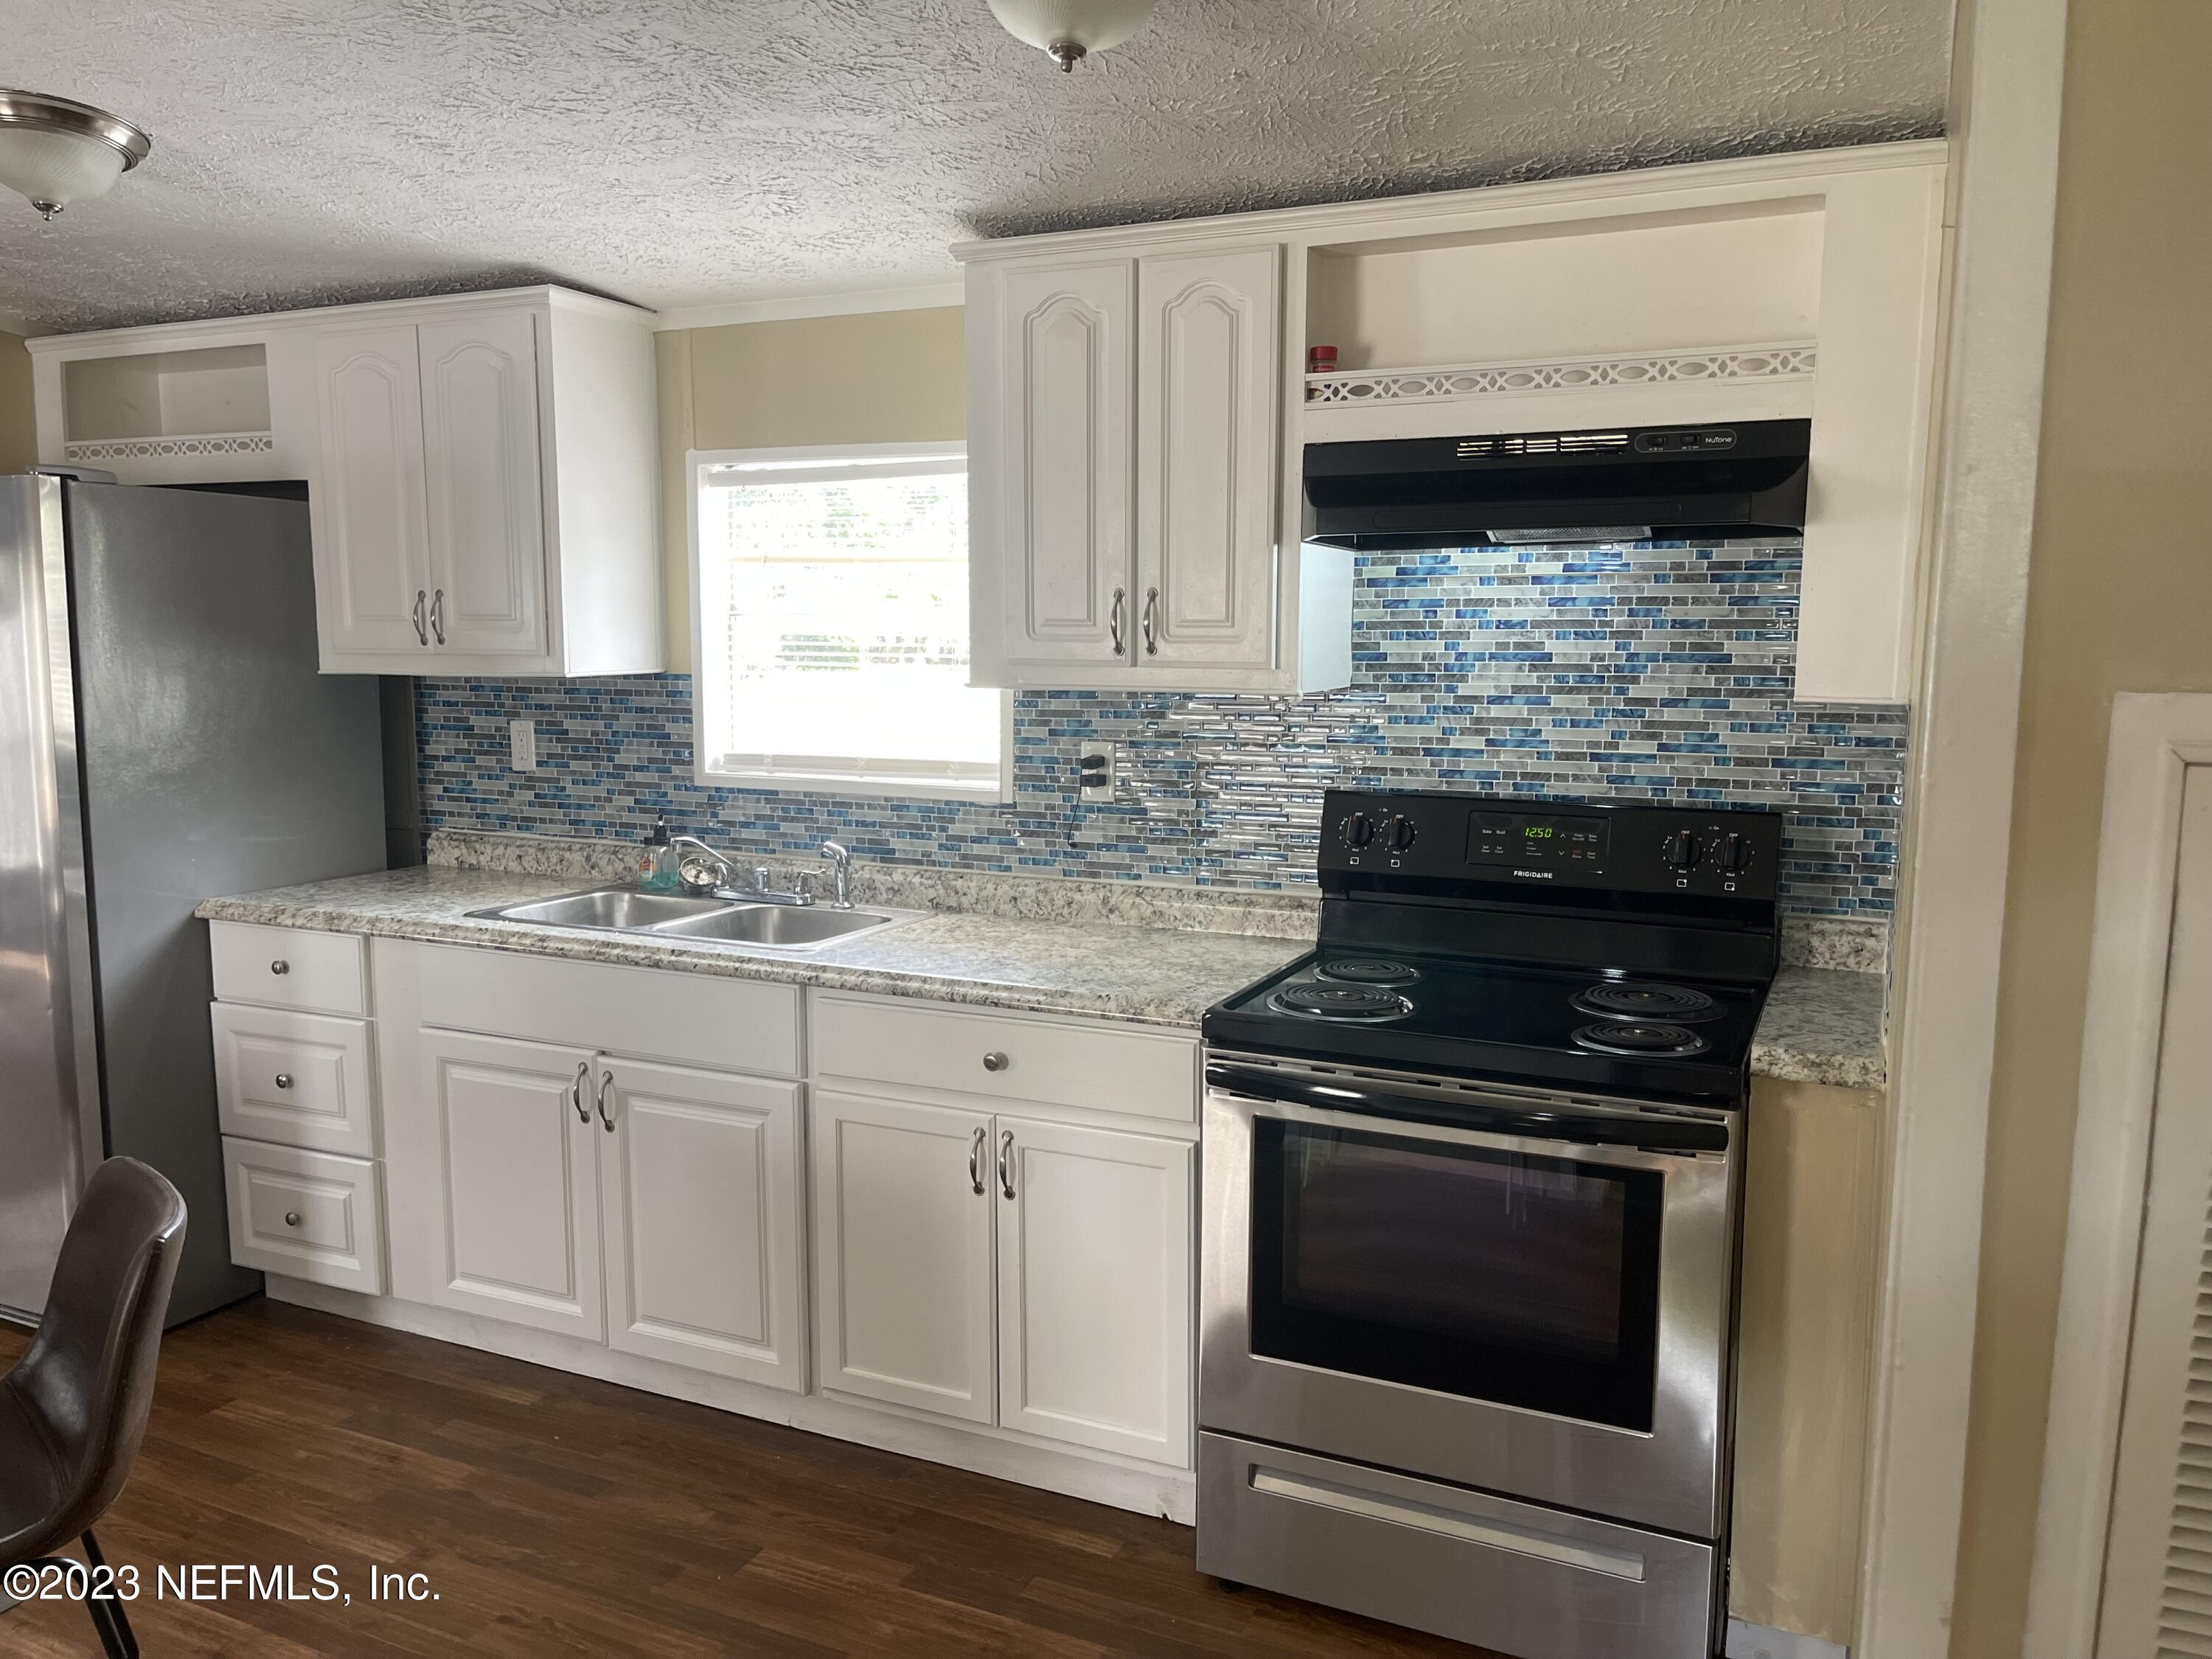
[[[223,1183],[234,1263],[383,1296],[385,1197],[374,1161],[226,1135]]]

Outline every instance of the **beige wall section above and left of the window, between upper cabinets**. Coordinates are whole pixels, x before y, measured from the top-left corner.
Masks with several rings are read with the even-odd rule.
[[[668,330],[655,347],[668,666],[688,672],[684,451],[960,440],[967,349],[958,305]]]

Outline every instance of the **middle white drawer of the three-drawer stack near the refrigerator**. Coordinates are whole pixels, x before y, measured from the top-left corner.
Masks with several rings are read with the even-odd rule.
[[[215,1104],[223,1135],[376,1157],[369,1022],[217,1002]]]

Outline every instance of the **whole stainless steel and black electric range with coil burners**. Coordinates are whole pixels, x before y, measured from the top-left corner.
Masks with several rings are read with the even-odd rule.
[[[1199,1568],[1708,1659],[1781,814],[1325,814],[1318,947],[1203,1026]]]

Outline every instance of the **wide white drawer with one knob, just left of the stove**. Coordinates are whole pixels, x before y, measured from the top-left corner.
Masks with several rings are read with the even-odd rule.
[[[1199,1044],[1110,1024],[814,995],[814,1071],[1192,1124]]]

